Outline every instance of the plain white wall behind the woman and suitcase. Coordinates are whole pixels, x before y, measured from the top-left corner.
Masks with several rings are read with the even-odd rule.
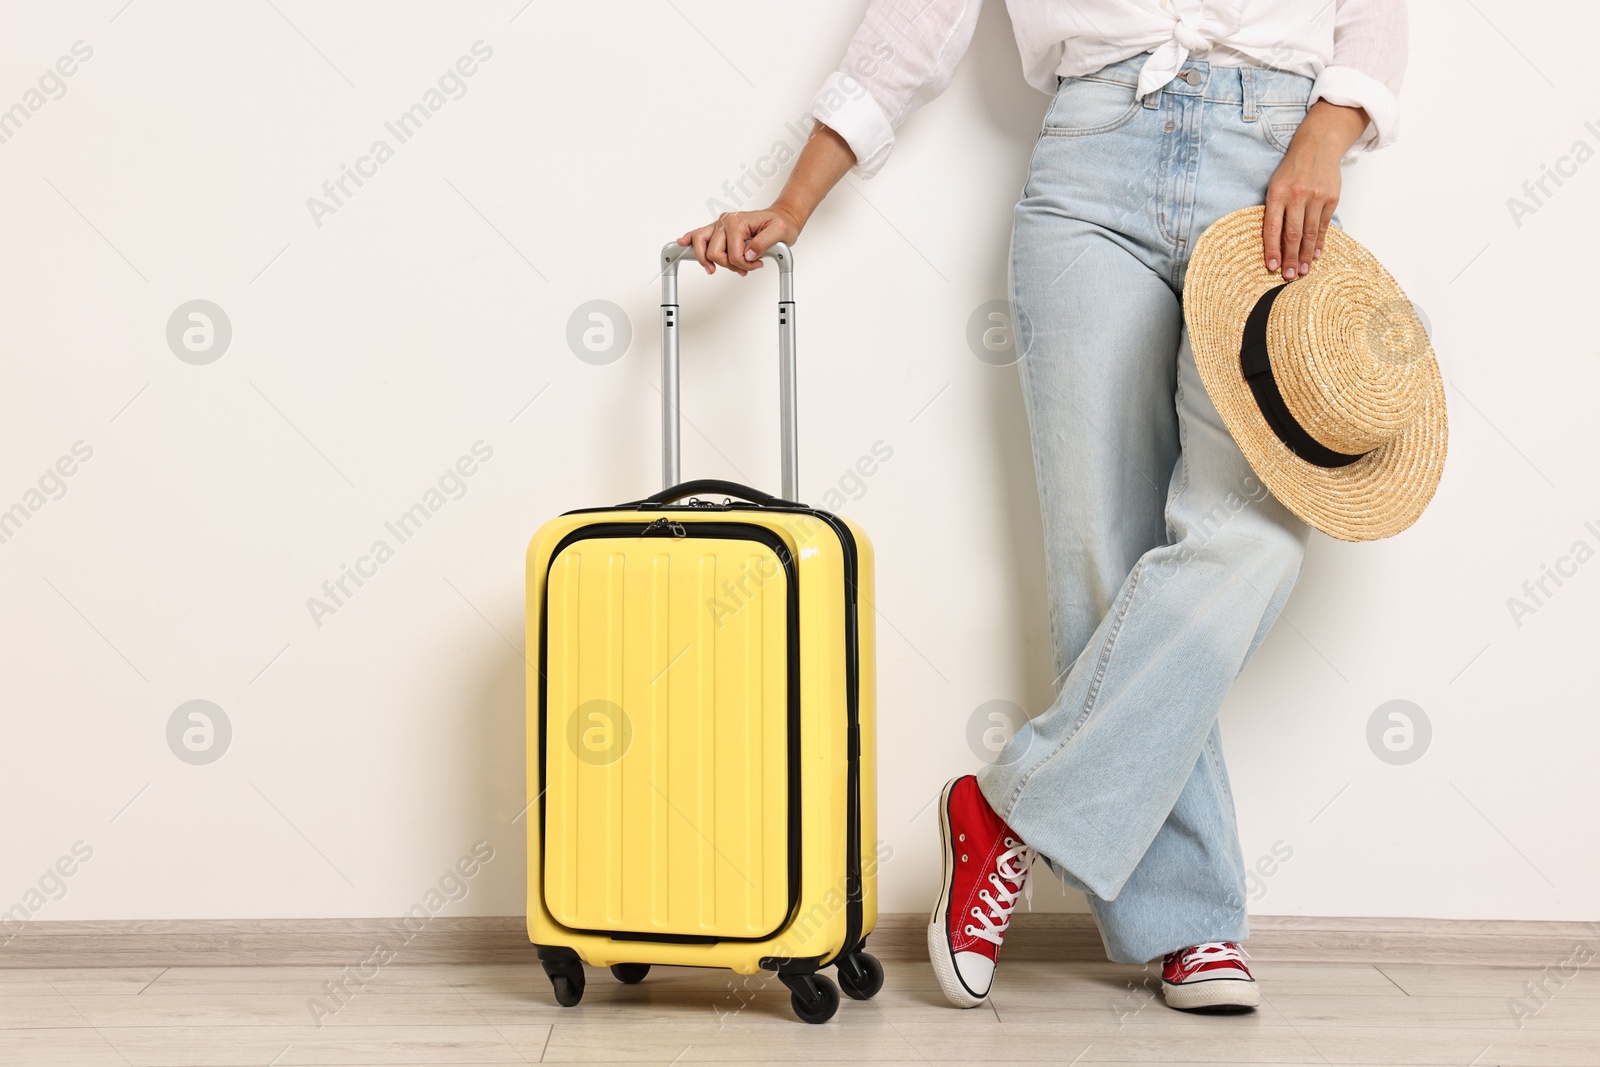
[[[0,544],[0,909],[40,920],[398,913],[478,840],[496,857],[453,913],[520,912],[523,547],[654,488],[654,251],[797,144],[784,123],[862,10],[274,2],[6,10],[0,107],[93,48],[0,144],[0,507],[93,450]],[[950,91],[798,248],[803,494],[893,448],[843,507],[893,624],[890,910],[931,899],[926,805],[974,765],[970,717],[1050,699],[1016,376],[965,339],[1003,294],[1045,107],[989,6]],[[1317,537],[1227,702],[1246,859],[1293,849],[1254,909],[1594,918],[1600,561],[1520,625],[1507,597],[1600,547],[1600,163],[1520,226],[1506,200],[1600,147],[1600,13],[1411,8],[1405,136],[1347,171],[1342,218],[1432,320],[1450,466],[1405,536]],[[480,40],[466,96],[318,226],[307,197],[394,147],[384,122]],[[686,274],[686,472],[774,483],[773,285]],[[192,299],[232,325],[210,365],[166,342]],[[592,299],[632,322],[610,365],[565,339]],[[307,598],[395,545],[384,522],[475,442],[493,458],[466,494],[317,625]],[[192,699],[232,725],[203,766],[166,739]],[[1366,741],[1392,699],[1434,731],[1405,766]],[[30,896],[75,841],[93,856],[64,864],[66,894]],[[1042,889],[1035,907],[1082,907]]]

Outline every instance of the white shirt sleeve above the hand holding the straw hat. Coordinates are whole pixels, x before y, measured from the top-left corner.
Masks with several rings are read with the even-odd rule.
[[[1371,122],[1350,147],[1354,157],[1387,147],[1400,136],[1406,10],[1405,0],[1338,0],[1338,5],[1333,61],[1317,77],[1310,102],[1366,109]]]

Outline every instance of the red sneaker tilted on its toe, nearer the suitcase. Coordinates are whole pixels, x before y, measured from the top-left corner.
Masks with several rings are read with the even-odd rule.
[[[976,1008],[994,984],[1034,849],[994,813],[971,774],[944,787],[939,840],[944,886],[928,923],[928,958],[950,1003]]]

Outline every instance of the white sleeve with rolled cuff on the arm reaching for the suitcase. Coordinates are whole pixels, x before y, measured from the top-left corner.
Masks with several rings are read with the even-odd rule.
[[[955,77],[982,0],[872,0],[838,70],[811,99],[811,117],[856,154],[872,178],[894,147],[894,130]]]

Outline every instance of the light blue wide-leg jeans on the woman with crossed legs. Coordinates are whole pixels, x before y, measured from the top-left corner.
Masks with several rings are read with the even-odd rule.
[[[1016,206],[1059,689],[978,776],[1120,963],[1248,934],[1218,710],[1306,550],[1200,384],[1179,298],[1205,227],[1266,198],[1310,80],[1192,61],[1141,101],[1142,59],[1061,83]]]

